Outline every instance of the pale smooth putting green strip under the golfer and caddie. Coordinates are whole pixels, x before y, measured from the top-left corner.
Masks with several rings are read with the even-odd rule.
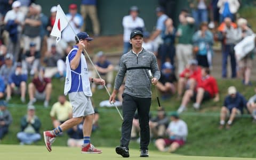
[[[49,153],[45,146],[18,146],[18,145],[0,145],[0,157],[3,160],[74,160],[74,159],[91,159],[91,160],[111,160],[123,159],[120,155],[115,153],[115,148],[103,148],[102,154],[81,154],[80,148],[68,148],[53,146],[52,152]],[[140,151],[137,149],[130,149],[130,159],[144,159],[140,158]],[[159,151],[149,151],[149,157],[145,159],[175,159],[175,160],[239,160],[239,159],[254,159],[254,158],[231,158],[231,157],[203,157],[203,156],[182,156],[169,153],[161,153]]]

